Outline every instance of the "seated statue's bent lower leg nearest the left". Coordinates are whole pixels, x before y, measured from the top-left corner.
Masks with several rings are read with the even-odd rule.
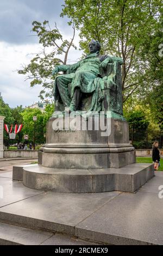
[[[71,97],[68,93],[68,84],[71,83],[72,78],[67,75],[61,75],[55,78],[59,95],[65,107],[69,107],[71,103]]]

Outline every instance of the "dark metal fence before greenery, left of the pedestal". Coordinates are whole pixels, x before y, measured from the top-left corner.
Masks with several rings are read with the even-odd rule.
[[[22,130],[18,132],[15,139],[11,139],[4,131],[4,149],[39,149],[46,142],[46,127],[43,125],[23,124]]]

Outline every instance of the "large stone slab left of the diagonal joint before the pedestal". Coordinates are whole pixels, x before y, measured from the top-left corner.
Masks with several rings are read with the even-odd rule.
[[[0,219],[74,235],[75,225],[118,194],[117,191],[97,194],[44,192],[1,208]]]

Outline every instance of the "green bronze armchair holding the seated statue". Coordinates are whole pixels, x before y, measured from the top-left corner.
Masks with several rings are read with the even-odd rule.
[[[101,77],[97,77],[94,80],[96,95],[95,93],[84,94],[80,103],[80,110],[111,111],[122,115],[121,64],[115,60],[109,63],[105,70],[101,68],[100,71]],[[66,71],[64,74],[70,74],[72,72],[75,71]],[[68,85],[68,92],[71,94],[71,83]],[[93,97],[95,99],[92,103]],[[96,105],[96,107],[93,108],[93,105]]]

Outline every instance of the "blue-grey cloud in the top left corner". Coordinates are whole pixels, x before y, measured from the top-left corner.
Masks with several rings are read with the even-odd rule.
[[[0,1],[0,41],[13,44],[33,44],[37,37],[32,30],[32,22],[49,20],[63,26],[61,19],[63,0],[1,0]],[[67,26],[67,25],[66,25]]]

